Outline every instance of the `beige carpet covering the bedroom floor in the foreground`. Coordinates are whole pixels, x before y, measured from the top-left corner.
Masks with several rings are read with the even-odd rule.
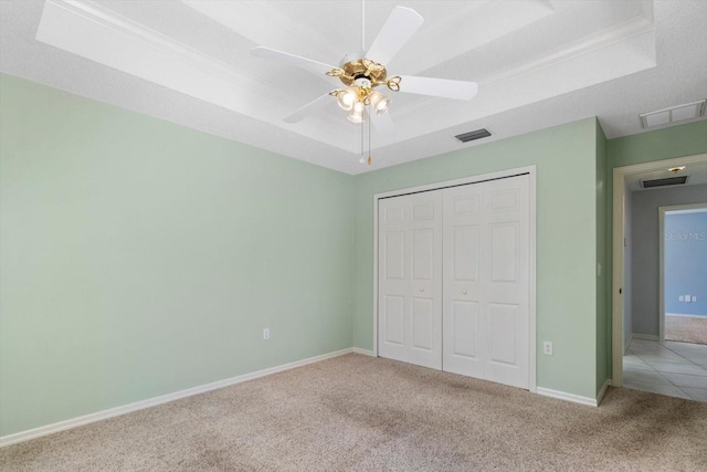
[[[706,471],[707,403],[350,354],[0,450],[3,471]]]

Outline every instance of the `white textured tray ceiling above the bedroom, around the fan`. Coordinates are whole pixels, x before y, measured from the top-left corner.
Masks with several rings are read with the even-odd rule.
[[[334,102],[283,122],[336,78],[249,51],[338,65],[371,44],[397,4],[425,21],[389,73],[474,81],[479,92],[452,101],[386,91],[395,132],[371,133],[369,167],[359,164],[361,126]],[[0,0],[0,71],[359,174],[589,116],[610,138],[641,133],[640,113],[707,96],[705,24],[704,0]],[[453,137],[482,127],[493,136]]]

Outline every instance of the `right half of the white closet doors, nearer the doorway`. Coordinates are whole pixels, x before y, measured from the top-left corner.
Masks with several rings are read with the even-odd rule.
[[[528,388],[529,178],[445,189],[444,370]]]

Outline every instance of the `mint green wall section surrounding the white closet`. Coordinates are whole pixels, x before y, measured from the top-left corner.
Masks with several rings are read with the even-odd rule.
[[[373,347],[373,195],[537,165],[537,350],[555,347],[538,354],[537,384],[595,398],[597,127],[588,118],[356,176],[354,344]]]

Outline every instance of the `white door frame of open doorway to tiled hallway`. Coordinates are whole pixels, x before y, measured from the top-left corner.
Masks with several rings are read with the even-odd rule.
[[[626,197],[625,178],[635,174],[665,170],[676,166],[689,166],[692,164],[707,161],[707,154],[677,157],[674,159],[654,160],[652,162],[636,164],[633,166],[615,167],[613,169],[613,234],[612,234],[612,297],[611,297],[611,384],[614,387],[623,385],[623,296],[620,294],[623,283],[623,238],[624,238],[624,207]],[[661,295],[662,296],[662,295]]]

